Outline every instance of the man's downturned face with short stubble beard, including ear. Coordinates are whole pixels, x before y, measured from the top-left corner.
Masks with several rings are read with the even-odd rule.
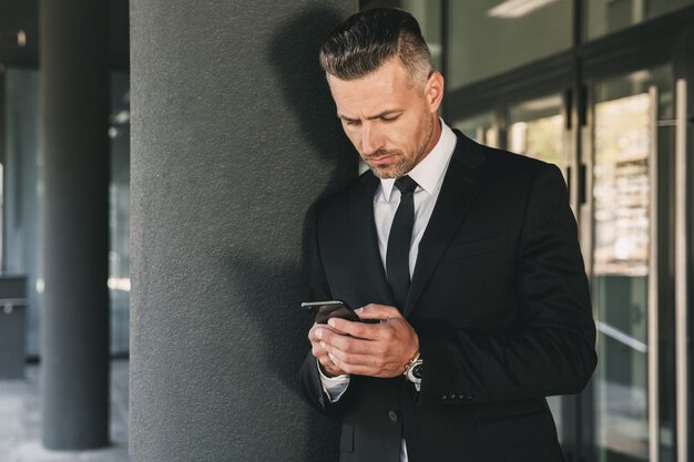
[[[408,85],[400,61],[391,59],[357,80],[328,79],[345,133],[380,178],[408,173],[440,136],[437,111],[443,78],[435,72],[421,88]]]

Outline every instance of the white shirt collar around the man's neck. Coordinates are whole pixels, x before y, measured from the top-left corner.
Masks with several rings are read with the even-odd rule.
[[[431,152],[417,165],[409,171],[407,175],[417,182],[419,187],[426,191],[428,194],[435,194],[437,188],[441,187],[443,173],[448,166],[448,162],[456,148],[456,142],[458,141],[456,134],[442,119],[441,122],[441,136],[436,143],[436,146]],[[392,188],[395,187],[396,178],[381,178],[380,189],[386,202],[390,202]]]

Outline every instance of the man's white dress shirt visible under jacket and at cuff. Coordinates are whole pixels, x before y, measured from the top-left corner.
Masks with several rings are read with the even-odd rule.
[[[443,184],[443,176],[456,148],[456,134],[441,119],[439,121],[441,122],[441,137],[439,137],[433,150],[415,168],[407,173],[418,185],[414,196],[415,226],[412,228],[412,242],[410,243],[410,278],[415,273],[419,243],[429,224],[429,218]],[[374,220],[376,222],[376,233],[378,234],[378,250],[380,251],[380,259],[385,270],[388,235],[399,205],[400,191],[395,187],[395,178],[381,178],[380,185],[374,195]],[[330,402],[336,402],[347,390],[349,376],[326,377],[320,371],[320,368],[318,368],[318,371],[320,372],[323,390],[330,399]],[[405,439],[402,439],[400,462],[408,462]]]

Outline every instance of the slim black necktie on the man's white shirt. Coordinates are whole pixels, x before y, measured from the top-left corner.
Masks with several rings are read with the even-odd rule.
[[[388,236],[386,271],[396,305],[402,311],[410,287],[410,243],[415,226],[414,193],[417,182],[409,176],[402,176],[395,181],[395,186],[400,189],[400,205],[395,213]]]

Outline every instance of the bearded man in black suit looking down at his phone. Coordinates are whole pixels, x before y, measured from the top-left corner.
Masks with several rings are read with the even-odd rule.
[[[451,131],[408,13],[349,18],[320,49],[345,133],[370,167],[319,201],[306,394],[343,419],[340,461],[561,461],[545,397],[595,367],[590,296],[560,171]]]

